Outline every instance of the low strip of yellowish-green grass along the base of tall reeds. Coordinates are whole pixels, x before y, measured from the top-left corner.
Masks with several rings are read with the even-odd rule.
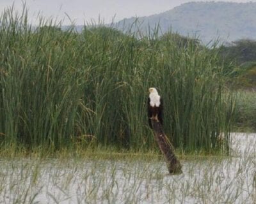
[[[230,157],[223,152],[184,152],[182,149],[176,149],[175,155],[181,160],[207,159],[207,158],[225,158]],[[160,150],[127,150],[127,149],[113,149],[106,147],[93,147],[92,149],[61,149],[52,152],[45,149],[28,150],[26,148],[19,149],[1,149],[0,157],[2,159],[145,159],[147,161],[164,161],[163,154]]]

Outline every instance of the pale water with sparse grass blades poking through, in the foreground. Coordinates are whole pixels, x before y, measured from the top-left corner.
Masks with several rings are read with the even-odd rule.
[[[181,161],[0,160],[0,203],[256,203],[256,134],[234,133],[232,156]]]

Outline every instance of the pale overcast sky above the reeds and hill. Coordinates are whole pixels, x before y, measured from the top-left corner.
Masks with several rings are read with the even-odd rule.
[[[249,2],[247,0],[231,1]],[[22,0],[0,0],[0,12],[2,13],[4,8],[12,6],[13,2],[15,10],[22,10]],[[70,24],[68,17],[76,25],[81,25],[91,19],[97,21],[99,16],[105,23],[109,23],[113,17],[117,21],[123,18],[152,15],[187,2],[189,0],[27,0],[26,8],[29,11],[29,20],[33,24],[36,24],[36,17],[40,12],[40,15],[45,18],[63,20],[64,25]]]

